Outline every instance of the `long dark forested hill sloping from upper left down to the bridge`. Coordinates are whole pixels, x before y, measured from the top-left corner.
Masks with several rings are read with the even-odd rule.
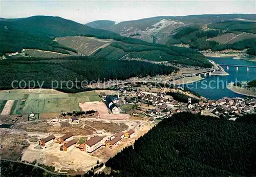
[[[108,24],[113,21],[100,21]],[[110,46],[92,50],[91,54],[109,60],[137,59],[148,61],[167,61],[185,65],[210,68],[211,64],[199,52],[191,49],[168,47],[157,43],[150,43],[136,38],[123,37],[117,33],[95,29],[76,23],[75,21],[52,16],[32,16],[18,19],[0,19],[0,56],[6,53],[21,52],[23,49],[39,49],[62,54],[74,54],[81,51],[81,46],[94,46],[95,40],[79,43],[80,38],[71,38],[71,41],[58,43],[55,37],[87,36],[108,41]],[[61,39],[62,40],[62,39]],[[66,40],[64,38],[64,40]],[[81,39],[82,40],[82,39]],[[113,42],[113,40],[115,40]],[[73,45],[70,45],[73,43]],[[75,45],[74,45],[75,43]],[[104,45],[103,45],[104,46]],[[73,53],[74,52],[74,53]],[[26,55],[26,53],[20,54]],[[38,56],[38,55],[37,55]]]

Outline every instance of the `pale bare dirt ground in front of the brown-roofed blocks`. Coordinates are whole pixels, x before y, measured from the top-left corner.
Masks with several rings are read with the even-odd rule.
[[[28,149],[24,152],[22,161],[45,164],[54,166],[55,171],[61,172],[63,170],[90,170],[92,166],[96,165],[97,160],[101,159],[93,157],[89,153],[80,151],[78,148],[63,152],[59,150],[62,144],[52,143],[47,148],[35,149],[37,143],[31,143]]]

